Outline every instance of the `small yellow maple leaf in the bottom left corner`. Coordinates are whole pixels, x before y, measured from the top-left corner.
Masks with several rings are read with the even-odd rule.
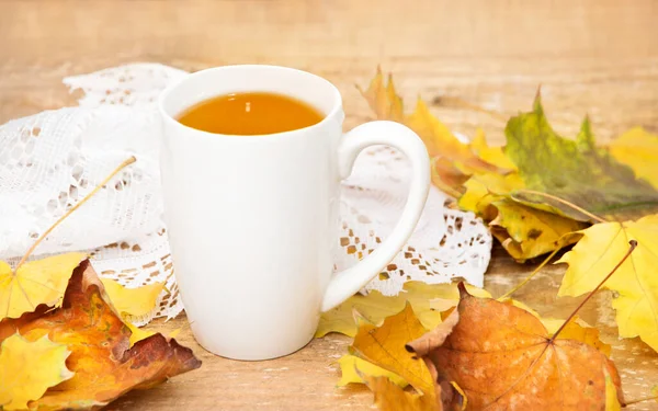
[[[73,376],[66,367],[71,354],[66,344],[47,335],[31,342],[19,333],[0,344],[0,409],[24,410],[39,399],[49,387]]]

